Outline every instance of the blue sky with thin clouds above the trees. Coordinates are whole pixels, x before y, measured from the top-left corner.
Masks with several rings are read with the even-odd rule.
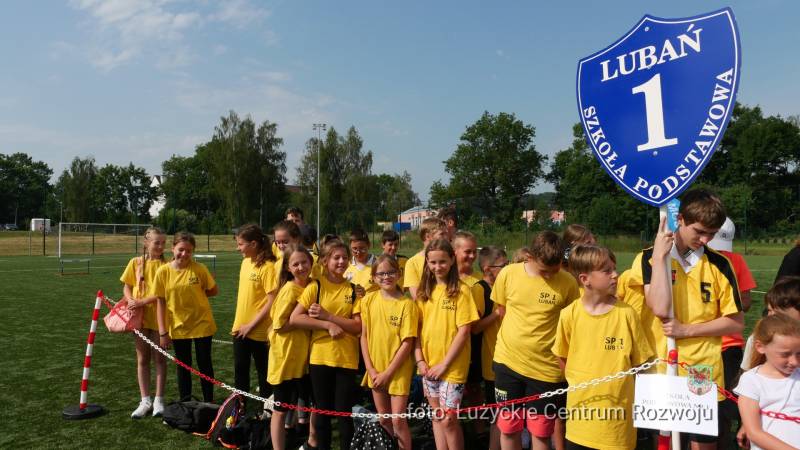
[[[13,1],[0,16],[0,152],[47,162],[191,155],[229,110],[278,124],[294,181],[311,126],[361,133],[376,173],[420,197],[483,111],[536,127],[546,155],[578,121],[580,58],[644,14],[733,8],[739,101],[800,113],[796,1]],[[539,185],[536,191],[546,190]]]

